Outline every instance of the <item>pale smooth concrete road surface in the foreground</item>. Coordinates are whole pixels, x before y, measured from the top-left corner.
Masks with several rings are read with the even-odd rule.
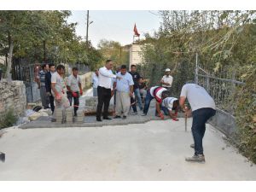
[[[206,163],[186,162],[193,149],[183,119],[6,131],[0,138],[0,151],[6,154],[0,180],[256,180],[256,166],[210,125]]]

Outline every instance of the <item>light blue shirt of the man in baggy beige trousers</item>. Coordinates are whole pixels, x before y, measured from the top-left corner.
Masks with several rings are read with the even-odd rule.
[[[130,86],[134,84],[131,74],[125,73],[125,75],[122,75],[122,73],[119,72],[117,76],[122,79],[116,79],[116,90],[129,93]]]

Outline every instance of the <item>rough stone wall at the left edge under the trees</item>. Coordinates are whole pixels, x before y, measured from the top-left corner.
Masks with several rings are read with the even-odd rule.
[[[26,87],[23,81],[0,81],[0,116],[14,109],[16,115],[23,115],[26,110]]]

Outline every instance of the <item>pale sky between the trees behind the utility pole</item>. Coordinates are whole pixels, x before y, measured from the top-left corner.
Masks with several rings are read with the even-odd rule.
[[[90,10],[89,18],[93,22],[89,26],[89,40],[94,47],[103,38],[117,41],[121,45],[131,44],[135,23],[137,31],[141,34],[141,39],[144,38],[143,33],[154,34],[154,31],[159,29],[160,16],[157,15],[158,11],[156,10],[150,12],[148,10]],[[82,38],[86,36],[86,15],[87,10],[72,11],[72,16],[67,20],[68,22],[78,22],[76,33]]]

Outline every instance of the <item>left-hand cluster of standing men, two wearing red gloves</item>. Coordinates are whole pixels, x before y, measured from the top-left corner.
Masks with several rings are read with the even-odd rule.
[[[81,79],[78,75],[79,69],[73,67],[72,74],[65,79],[65,67],[58,65],[55,69],[54,64],[42,65],[42,70],[38,73],[38,88],[42,106],[52,111],[51,121],[55,122],[55,108],[65,109],[72,106],[74,116],[79,109],[79,96],[83,95]]]

